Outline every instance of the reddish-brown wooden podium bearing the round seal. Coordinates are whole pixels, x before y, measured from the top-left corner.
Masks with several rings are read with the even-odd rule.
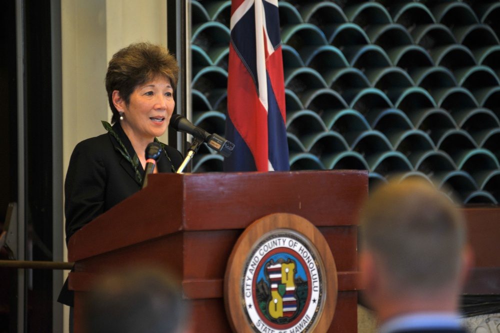
[[[74,329],[92,279],[130,264],[176,273],[191,307],[189,331],[230,332],[223,278],[232,248],[253,221],[299,215],[315,225],[336,264],[338,294],[328,332],[357,331],[357,226],[366,171],[154,174],[148,186],[77,231],[68,243]]]

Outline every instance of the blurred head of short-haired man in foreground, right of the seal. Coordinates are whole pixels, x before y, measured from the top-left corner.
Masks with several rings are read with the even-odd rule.
[[[434,302],[436,308],[456,306],[471,264],[464,217],[429,182],[377,188],[362,210],[360,236],[364,295],[375,310],[404,299],[423,309],[435,297],[446,303]]]

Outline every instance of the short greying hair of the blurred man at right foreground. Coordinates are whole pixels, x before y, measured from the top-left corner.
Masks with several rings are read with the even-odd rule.
[[[361,247],[373,253],[394,290],[437,290],[457,278],[466,244],[464,218],[429,182],[382,185],[360,222]]]

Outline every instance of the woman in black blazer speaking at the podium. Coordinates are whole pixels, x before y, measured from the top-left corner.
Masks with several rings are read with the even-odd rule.
[[[149,43],[131,44],[109,61],[105,84],[113,125],[102,122],[107,133],[78,143],[71,154],[64,182],[66,243],[141,188],[146,147],[166,131],[173,113],[178,71],[165,48]],[[161,146],[154,171],[175,172],[181,153]],[[72,306],[72,296],[66,281],[58,301]]]

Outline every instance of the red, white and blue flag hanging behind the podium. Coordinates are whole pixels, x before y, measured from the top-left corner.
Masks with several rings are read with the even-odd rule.
[[[289,170],[277,0],[232,0],[224,171]]]

